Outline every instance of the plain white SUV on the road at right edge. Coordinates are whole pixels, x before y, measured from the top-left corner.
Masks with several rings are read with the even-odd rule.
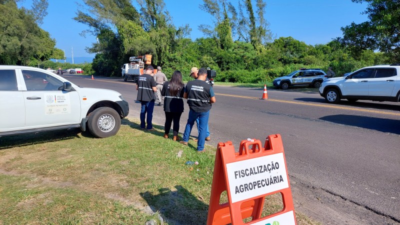
[[[329,103],[349,101],[399,101],[400,64],[368,66],[344,77],[326,79],[319,94]]]

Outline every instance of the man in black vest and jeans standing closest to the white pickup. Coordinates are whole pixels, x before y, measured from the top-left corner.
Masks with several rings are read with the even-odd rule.
[[[154,109],[154,92],[157,90],[155,87],[155,80],[151,76],[153,72],[153,67],[148,65],[143,74],[139,76],[136,82],[137,98],[136,100],[141,103],[140,110],[140,128],[146,128],[145,117],[147,113],[147,130],[153,131],[153,125],[151,120],[153,118]]]

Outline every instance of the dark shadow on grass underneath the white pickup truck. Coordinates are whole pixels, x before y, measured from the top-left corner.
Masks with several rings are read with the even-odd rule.
[[[7,149],[12,147],[28,146],[37,143],[53,142],[65,139],[79,138],[79,128],[43,131],[39,133],[19,134],[11,136],[0,137],[0,149]],[[89,132],[87,135],[91,135]]]

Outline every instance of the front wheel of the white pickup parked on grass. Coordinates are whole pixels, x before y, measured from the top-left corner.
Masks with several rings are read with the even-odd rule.
[[[109,137],[118,132],[121,118],[113,108],[99,107],[90,113],[87,126],[93,136]]]

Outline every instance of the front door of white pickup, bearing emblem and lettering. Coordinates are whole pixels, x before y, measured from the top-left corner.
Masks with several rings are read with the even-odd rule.
[[[79,124],[80,100],[77,91],[60,90],[63,81],[50,72],[20,69],[25,102],[25,127],[40,128]]]

